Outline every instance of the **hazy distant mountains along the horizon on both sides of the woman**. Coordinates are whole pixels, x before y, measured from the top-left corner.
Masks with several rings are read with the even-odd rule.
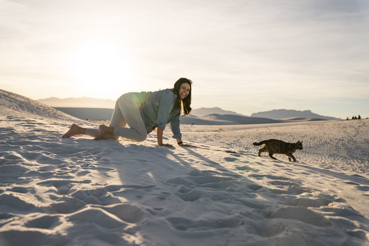
[[[50,97],[37,100],[41,103],[55,107],[56,109],[63,111],[69,115],[80,119],[110,119],[113,114],[113,108],[115,101],[110,99],[97,99],[91,97],[82,98],[56,98]],[[233,117],[237,116],[237,117]],[[231,117],[232,116],[232,117]],[[252,119],[253,118],[253,119]],[[263,118],[268,120],[261,120],[257,118]],[[195,120],[196,119],[196,120]],[[323,116],[311,112],[311,110],[270,110],[265,112],[257,112],[251,114],[250,117],[242,114],[238,114],[234,111],[223,110],[219,107],[213,108],[197,108],[193,109],[191,115],[185,118],[181,118],[182,124],[201,124],[206,125],[213,121],[217,121],[220,125],[224,124],[261,124],[272,123],[270,119],[278,122],[290,122],[290,121],[312,121],[312,120],[331,120],[338,119],[329,116]],[[202,123],[200,123],[202,122]],[[250,123],[259,122],[259,123]]]

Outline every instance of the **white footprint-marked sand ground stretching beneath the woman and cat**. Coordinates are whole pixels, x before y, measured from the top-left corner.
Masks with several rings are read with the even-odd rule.
[[[170,149],[155,132],[61,138],[73,118],[4,93],[1,246],[369,245],[368,120],[187,126],[184,141],[237,153]],[[251,143],[269,138],[304,141],[297,162],[258,157]]]

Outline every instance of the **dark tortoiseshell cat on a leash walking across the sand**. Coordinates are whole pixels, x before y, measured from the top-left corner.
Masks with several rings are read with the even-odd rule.
[[[259,143],[255,142],[253,145],[259,146],[262,144],[265,144],[261,149],[259,149],[259,156],[261,152],[269,152],[269,156],[272,159],[277,160],[277,158],[273,157],[274,154],[283,154],[288,157],[288,160],[291,161],[291,158],[293,159],[293,162],[296,162],[296,158],[292,155],[296,149],[301,150],[302,142],[297,141],[296,143],[286,143],[282,140],[278,139],[269,139],[264,140]]]

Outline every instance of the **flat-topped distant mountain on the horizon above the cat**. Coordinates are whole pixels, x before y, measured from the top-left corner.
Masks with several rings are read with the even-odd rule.
[[[319,114],[314,114],[310,110],[286,110],[286,109],[277,109],[277,110],[270,110],[265,112],[258,112],[251,114],[251,117],[263,117],[263,118],[270,118],[270,119],[283,119],[283,118],[291,118],[291,117],[303,117],[303,118],[320,118],[320,119],[339,119],[329,116],[323,116]]]

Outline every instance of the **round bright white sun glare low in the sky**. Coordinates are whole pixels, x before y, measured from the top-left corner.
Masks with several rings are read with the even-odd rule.
[[[84,43],[72,57],[73,80],[86,94],[94,92],[96,96],[98,90],[105,90],[102,88],[114,90],[129,84],[126,83],[131,77],[129,59],[109,42]]]

